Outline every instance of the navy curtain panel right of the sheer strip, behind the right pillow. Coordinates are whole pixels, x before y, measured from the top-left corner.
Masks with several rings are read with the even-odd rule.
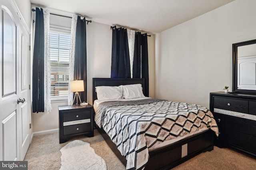
[[[149,96],[148,80],[148,36],[136,32],[134,43],[134,59],[132,67],[132,78],[145,79],[145,96]]]

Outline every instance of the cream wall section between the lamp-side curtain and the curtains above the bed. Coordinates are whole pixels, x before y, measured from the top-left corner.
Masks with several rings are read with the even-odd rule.
[[[112,30],[110,25],[93,22],[86,27],[87,102],[92,104],[92,78],[110,78]]]

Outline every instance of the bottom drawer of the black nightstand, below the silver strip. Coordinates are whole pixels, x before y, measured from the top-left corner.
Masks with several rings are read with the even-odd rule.
[[[84,133],[87,131],[91,131],[91,123],[83,123],[83,124],[70,125],[70,126],[63,127],[63,135]]]

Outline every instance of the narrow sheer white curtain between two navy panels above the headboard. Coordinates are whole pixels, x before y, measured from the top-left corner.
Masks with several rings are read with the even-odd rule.
[[[131,30],[131,29],[127,29],[127,37],[128,37],[128,46],[129,46],[129,55],[130,55],[131,78],[132,78],[132,66],[133,66],[134,43],[135,43],[135,31]]]

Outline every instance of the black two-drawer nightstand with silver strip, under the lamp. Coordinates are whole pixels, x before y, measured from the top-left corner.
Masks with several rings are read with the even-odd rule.
[[[59,106],[59,137],[60,143],[68,139],[86,135],[93,137],[93,107],[88,104],[84,106]]]

